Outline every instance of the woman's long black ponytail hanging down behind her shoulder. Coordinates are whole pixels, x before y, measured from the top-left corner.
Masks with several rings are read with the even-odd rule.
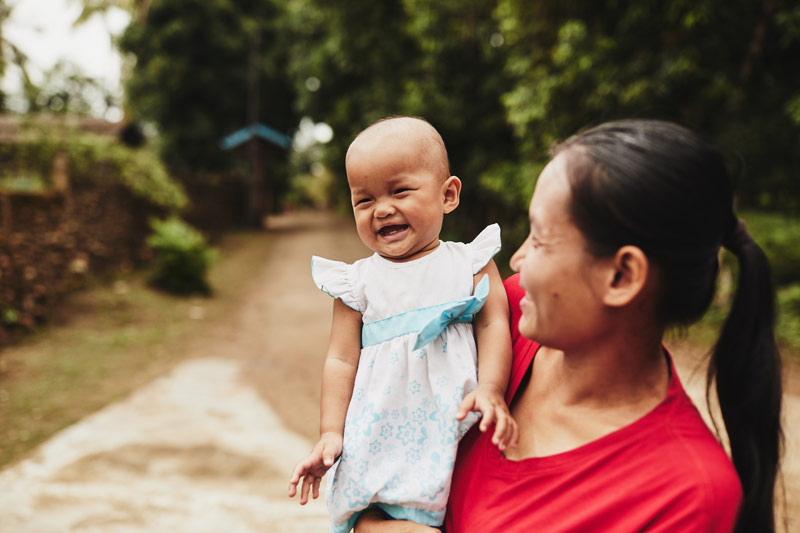
[[[714,346],[716,383],[731,458],[742,483],[737,532],[775,531],[775,481],[783,448],[781,357],[773,333],[775,291],[764,252],[742,222],[723,245],[739,261],[730,314]]]

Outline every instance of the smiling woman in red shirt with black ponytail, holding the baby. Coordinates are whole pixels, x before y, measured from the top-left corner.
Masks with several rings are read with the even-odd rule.
[[[773,531],[774,292],[719,155],[666,122],[598,126],[556,147],[530,219],[506,283],[519,445],[503,456],[479,432],[462,441],[446,530]],[[662,345],[708,308],[720,245],[739,279],[708,381],[733,464]],[[372,512],[356,531],[430,529]]]

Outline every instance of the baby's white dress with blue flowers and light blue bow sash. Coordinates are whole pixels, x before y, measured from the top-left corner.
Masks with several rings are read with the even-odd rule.
[[[397,519],[444,521],[458,441],[479,417],[455,419],[477,385],[471,320],[488,279],[473,295],[473,276],[499,250],[493,224],[469,244],[440,242],[406,263],[312,259],[317,287],[363,321],[343,451],[328,473],[331,531],[350,531],[370,505]]]

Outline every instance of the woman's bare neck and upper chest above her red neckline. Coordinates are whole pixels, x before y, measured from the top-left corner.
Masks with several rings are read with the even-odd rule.
[[[597,342],[591,350],[542,347],[530,381],[511,414],[519,445],[506,457],[520,460],[573,450],[627,426],[667,394],[669,367],[661,337],[626,343]]]

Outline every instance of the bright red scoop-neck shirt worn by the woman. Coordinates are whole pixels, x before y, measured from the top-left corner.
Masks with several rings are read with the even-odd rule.
[[[506,280],[506,292],[514,346],[510,400],[539,345],[519,334],[518,276]],[[574,450],[510,461],[490,436],[473,429],[460,444],[448,533],[733,530],[739,478],[674,368],[655,409]]]

